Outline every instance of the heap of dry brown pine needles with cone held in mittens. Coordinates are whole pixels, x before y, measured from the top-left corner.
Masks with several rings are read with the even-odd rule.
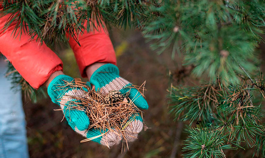
[[[95,88],[90,88],[85,82],[82,82],[81,79],[76,78],[73,81],[64,81],[64,85],[56,85],[57,90],[67,91],[69,88],[82,91],[82,95],[78,96],[59,96],[61,104],[66,103],[67,100],[67,110],[82,110],[84,111],[90,120],[89,129],[97,129],[99,131],[114,132],[118,136],[122,137],[123,144],[128,143],[125,135],[128,134],[124,130],[131,121],[133,121],[136,115],[141,116],[142,111],[134,105],[133,101],[128,98],[129,92],[122,95],[119,91],[111,91],[108,94],[102,94],[101,91],[95,91]],[[131,86],[128,88],[137,88],[139,90],[145,90],[145,82],[141,86]],[[127,88],[127,87],[126,87]],[[141,93],[143,95],[143,93]],[[75,101],[69,101],[71,98]],[[62,110],[62,109],[58,109]],[[134,116],[134,117],[132,117]],[[71,117],[71,116],[70,116]],[[70,118],[71,119],[71,118]],[[107,132],[102,132],[100,136],[103,136]],[[87,138],[82,141],[87,142],[97,137]]]

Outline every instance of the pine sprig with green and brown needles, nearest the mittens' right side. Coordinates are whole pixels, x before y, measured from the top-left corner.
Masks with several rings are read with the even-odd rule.
[[[190,121],[190,125],[199,119],[206,121],[213,111],[214,101],[205,99],[210,90],[208,86],[172,87],[170,101],[174,105],[170,112],[174,113],[175,119]]]

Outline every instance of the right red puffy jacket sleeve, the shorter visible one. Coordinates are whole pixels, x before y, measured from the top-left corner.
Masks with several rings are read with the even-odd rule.
[[[85,26],[86,27],[86,26]],[[76,62],[82,77],[87,77],[85,68],[93,63],[116,64],[116,56],[108,32],[102,26],[97,31],[79,34],[79,46],[73,38],[69,39],[69,44],[75,54]]]

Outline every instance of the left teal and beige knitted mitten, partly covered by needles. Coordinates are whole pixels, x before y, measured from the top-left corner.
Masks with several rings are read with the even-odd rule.
[[[55,77],[49,84],[48,94],[51,97],[51,100],[63,109],[63,114],[65,115],[65,119],[67,120],[70,127],[86,138],[99,136],[92,141],[108,147],[116,144],[117,141],[120,141],[121,138],[113,132],[99,131],[95,129],[87,130],[89,126],[89,118],[87,114],[84,111],[74,110],[72,106],[75,105],[70,104],[70,102],[78,103],[79,100],[76,98],[84,97],[86,94],[80,88],[72,88],[70,86],[60,87],[65,85],[65,81],[75,84],[75,80],[72,77],[67,75],[59,75]],[[75,98],[72,96],[75,96]],[[100,136],[104,132],[107,133],[103,136]]]

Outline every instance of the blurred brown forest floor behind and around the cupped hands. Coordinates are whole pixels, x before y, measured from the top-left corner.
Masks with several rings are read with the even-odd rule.
[[[24,100],[29,152],[32,158],[182,157],[181,148],[187,136],[183,131],[186,122],[174,122],[168,114],[170,105],[167,89],[171,83],[193,85],[197,81],[190,76],[193,67],[183,67],[182,57],[179,55],[173,60],[171,53],[157,55],[150,50],[149,43],[145,42],[137,30],[121,31],[113,27],[109,29],[109,33],[116,51],[120,75],[135,85],[141,85],[146,80],[145,96],[149,109],[144,111],[143,116],[150,129],[142,131],[138,140],[129,144],[130,151],[121,152],[121,144],[108,149],[94,142],[80,143],[84,138],[77,135],[65,120],[61,122],[63,114],[53,110],[58,106],[49,98],[39,99],[37,104]],[[265,45],[262,44],[259,49],[264,51]],[[64,73],[80,77],[74,54],[67,44],[56,45],[55,50],[64,62]],[[261,71],[263,70],[264,66],[261,66]],[[247,158],[253,155],[251,150],[238,149],[229,152],[225,154],[230,158]]]

